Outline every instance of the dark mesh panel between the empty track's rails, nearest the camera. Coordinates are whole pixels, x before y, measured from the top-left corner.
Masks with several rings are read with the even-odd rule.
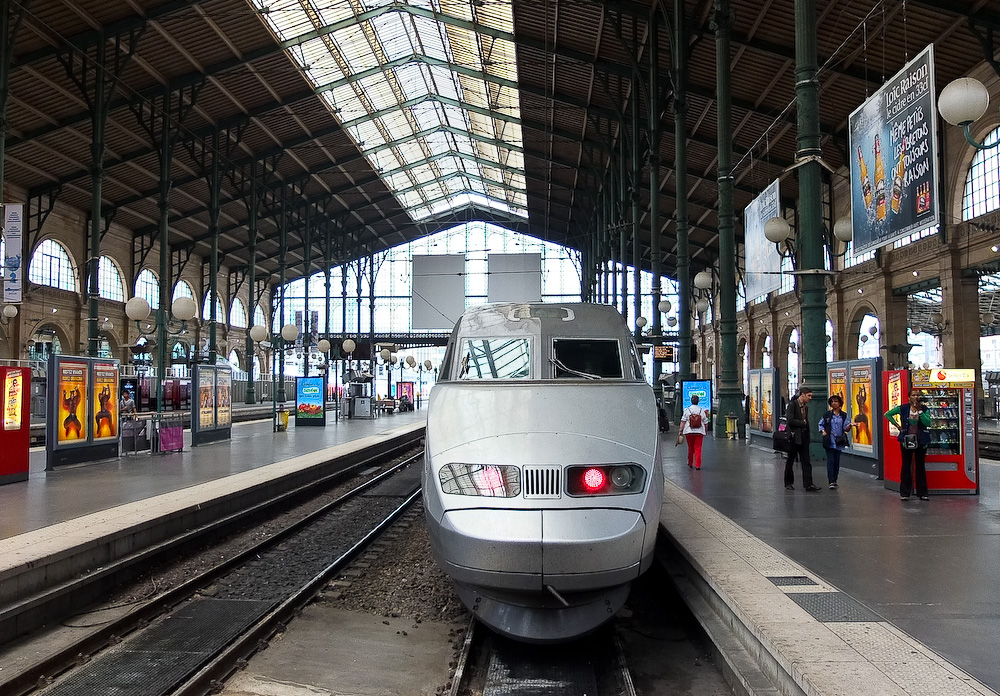
[[[115,646],[44,696],[160,696],[263,616],[273,602],[199,599]]]

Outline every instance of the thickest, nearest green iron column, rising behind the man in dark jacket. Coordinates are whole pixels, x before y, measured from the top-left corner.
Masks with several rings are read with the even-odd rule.
[[[823,269],[822,181],[818,159],[819,81],[816,77],[815,0],[795,0],[795,102],[799,164],[799,287],[802,296],[802,386],[813,390],[813,427],[826,409],[826,275]],[[811,159],[812,158],[812,159]],[[821,457],[819,438],[813,457]]]

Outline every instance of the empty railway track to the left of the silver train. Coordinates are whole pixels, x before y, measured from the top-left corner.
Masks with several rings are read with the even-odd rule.
[[[282,532],[16,674],[7,671],[0,677],[0,693],[153,696],[217,690],[226,674],[266,645],[329,578],[418,499],[422,453],[372,477],[372,470],[394,454],[398,458],[391,453],[366,459],[326,481],[329,488],[349,476],[368,479]],[[265,508],[280,509],[306,494],[279,496]],[[242,519],[259,520],[258,508]],[[226,519],[210,526],[233,525]],[[200,531],[202,538],[213,533]],[[147,563],[161,555],[151,550]]]

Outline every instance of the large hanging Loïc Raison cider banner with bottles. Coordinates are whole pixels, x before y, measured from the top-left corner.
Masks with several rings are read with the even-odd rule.
[[[934,47],[851,114],[853,255],[938,223]]]

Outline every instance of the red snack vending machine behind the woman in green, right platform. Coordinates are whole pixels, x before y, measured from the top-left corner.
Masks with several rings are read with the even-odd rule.
[[[937,368],[889,370],[882,373],[886,411],[905,404],[915,389],[931,415],[927,446],[927,490],[930,493],[979,493],[979,443],[976,438],[976,371]],[[902,455],[899,431],[885,418],[885,487],[899,490]]]

